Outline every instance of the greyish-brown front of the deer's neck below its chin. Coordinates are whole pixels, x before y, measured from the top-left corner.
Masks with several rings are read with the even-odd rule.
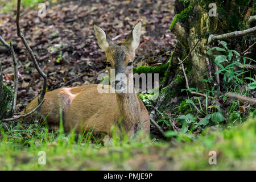
[[[118,111],[123,116],[123,124],[126,131],[136,133],[142,122],[141,105],[136,93],[116,94]]]

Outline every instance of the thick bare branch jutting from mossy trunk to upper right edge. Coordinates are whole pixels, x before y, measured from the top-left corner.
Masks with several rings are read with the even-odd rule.
[[[226,38],[234,38],[237,36],[243,36],[247,34],[251,34],[256,31],[256,27],[248,28],[242,31],[234,31],[228,34],[221,34],[221,35],[210,35],[208,38],[208,43],[212,43],[214,40],[226,39]]]

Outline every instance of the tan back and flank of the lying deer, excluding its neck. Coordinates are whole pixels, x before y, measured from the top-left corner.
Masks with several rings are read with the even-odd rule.
[[[41,113],[46,118],[49,126],[59,126],[60,110],[63,114],[63,123],[65,131],[71,131],[76,127],[80,132],[86,128],[86,131],[109,133],[114,123],[118,121],[121,114],[118,113],[117,100],[114,93],[99,93],[98,85],[84,85],[73,88],[64,87],[47,92],[44,96],[44,103],[41,107]],[[139,99],[139,98],[138,98]],[[142,109],[143,127],[146,133],[149,133],[149,116],[143,102],[139,99]],[[35,98],[26,107],[26,113],[30,112],[38,105],[38,98]],[[24,110],[22,111],[22,114]],[[24,120],[28,121],[35,117]]]

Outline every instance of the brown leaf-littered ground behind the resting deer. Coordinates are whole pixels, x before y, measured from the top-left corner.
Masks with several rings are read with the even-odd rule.
[[[38,16],[38,10],[22,10],[27,12],[20,18],[22,32],[41,68],[48,75],[48,90],[60,88],[64,84],[80,86],[100,82],[97,76],[99,72],[105,72],[106,59],[93,34],[93,23],[98,23],[120,44],[133,25],[142,20],[141,44],[136,52],[134,66],[167,63],[177,41],[169,30],[174,17],[172,4],[165,1],[90,2],[80,5],[80,1],[67,1],[48,5],[46,16],[42,18]],[[0,35],[15,45],[19,57],[17,110],[21,111],[39,94],[43,80],[16,35],[14,11],[1,14],[0,19]],[[13,63],[9,52],[0,52],[0,59],[3,81],[13,87]],[[68,82],[76,77],[79,78]]]

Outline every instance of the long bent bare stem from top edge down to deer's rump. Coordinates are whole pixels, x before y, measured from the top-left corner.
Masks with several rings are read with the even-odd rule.
[[[43,77],[44,79],[44,84],[43,84],[43,89],[42,92],[40,94],[40,97],[38,97],[38,103],[41,103],[44,99],[44,95],[46,94],[46,87],[47,87],[47,75],[42,71],[42,69],[39,67],[38,65],[38,61],[36,61],[35,55],[32,51],[32,49],[30,48],[30,46],[28,46],[27,40],[25,39],[24,35],[22,34],[22,32],[20,32],[20,26],[19,26],[19,14],[20,14],[20,0],[18,0],[17,3],[17,15],[16,15],[16,26],[17,26],[17,35],[20,37],[20,39],[22,39],[22,42],[24,44],[24,46],[26,47],[34,65],[36,70],[39,72],[39,74]],[[35,124],[38,124],[39,118],[40,117],[40,107],[38,107],[38,111],[36,114],[36,119],[35,119]]]

